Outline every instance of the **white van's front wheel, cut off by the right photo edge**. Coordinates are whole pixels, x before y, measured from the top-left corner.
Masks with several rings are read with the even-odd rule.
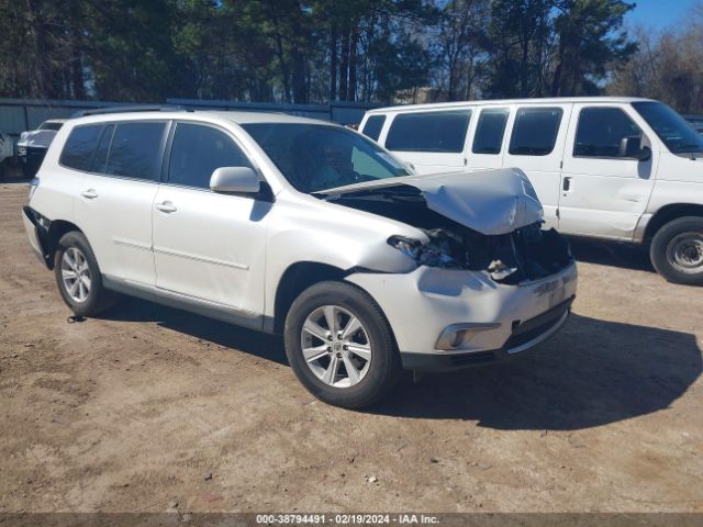
[[[668,281],[703,285],[703,217],[679,217],[667,223],[652,238],[649,257]]]

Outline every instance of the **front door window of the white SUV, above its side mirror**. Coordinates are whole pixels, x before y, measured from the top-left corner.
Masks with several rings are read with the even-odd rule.
[[[200,124],[176,125],[169,183],[209,189],[212,172],[221,167],[252,167],[252,164],[224,132]]]

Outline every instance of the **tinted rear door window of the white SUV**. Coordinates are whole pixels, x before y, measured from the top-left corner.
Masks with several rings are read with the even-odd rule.
[[[157,181],[166,123],[118,123],[105,173]]]

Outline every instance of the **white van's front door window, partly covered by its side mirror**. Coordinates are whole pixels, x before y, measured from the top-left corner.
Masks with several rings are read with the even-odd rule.
[[[573,155],[617,157],[622,139],[640,135],[639,126],[620,108],[584,108],[579,115]]]

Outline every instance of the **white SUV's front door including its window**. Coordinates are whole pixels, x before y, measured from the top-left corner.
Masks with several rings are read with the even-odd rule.
[[[177,122],[166,181],[156,197],[156,287],[234,310],[264,312],[264,257],[270,201],[210,190],[220,167],[252,167],[228,131]]]

